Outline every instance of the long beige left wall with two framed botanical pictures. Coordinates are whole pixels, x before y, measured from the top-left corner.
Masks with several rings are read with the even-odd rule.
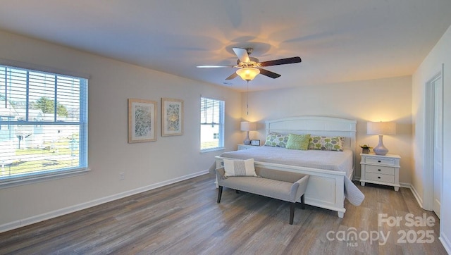
[[[89,168],[85,175],[0,189],[0,232],[143,189],[206,173],[221,151],[199,152],[199,98],[226,101],[226,149],[241,139],[240,93],[0,32],[0,58],[89,75]],[[183,99],[183,136],[128,144],[128,98]],[[160,113],[158,113],[158,118]],[[125,180],[119,180],[119,173]],[[213,184],[212,184],[213,185]]]

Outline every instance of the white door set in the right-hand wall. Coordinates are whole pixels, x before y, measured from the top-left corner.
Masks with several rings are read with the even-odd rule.
[[[433,211],[440,218],[440,192],[443,170],[443,95],[442,78],[434,80],[433,89]]]

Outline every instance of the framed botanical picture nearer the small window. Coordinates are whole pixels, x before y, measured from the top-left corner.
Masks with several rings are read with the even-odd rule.
[[[183,100],[161,99],[161,136],[183,135]]]

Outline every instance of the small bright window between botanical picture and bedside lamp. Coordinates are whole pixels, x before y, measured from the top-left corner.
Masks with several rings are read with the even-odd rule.
[[[200,149],[209,151],[224,147],[224,101],[200,99]]]

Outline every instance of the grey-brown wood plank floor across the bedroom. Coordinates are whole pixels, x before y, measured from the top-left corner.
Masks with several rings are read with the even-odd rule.
[[[224,188],[216,204],[213,182],[213,175],[203,175],[1,233],[0,254],[446,254],[438,218],[420,209],[406,188],[359,186],[365,201],[358,207],[346,201],[345,218],[297,206],[289,225],[286,202]],[[378,213],[404,220],[378,226]],[[408,213],[426,213],[435,225],[409,227]],[[428,238],[421,238],[426,230]],[[343,240],[353,231],[357,240]],[[388,241],[367,239],[376,232],[390,232]],[[425,240],[433,242],[419,243]]]

